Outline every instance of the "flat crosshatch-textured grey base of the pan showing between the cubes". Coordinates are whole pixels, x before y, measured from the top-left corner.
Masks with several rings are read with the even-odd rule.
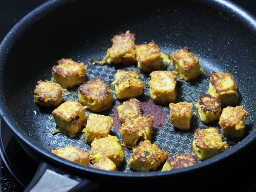
[[[148,74],[141,73],[136,66],[133,67],[122,67],[122,69],[125,70],[134,70],[139,72],[140,79],[145,83],[145,89],[144,89],[144,95],[143,97],[139,98],[139,100],[147,100],[150,99],[150,93],[148,88],[148,80],[150,80],[150,77]],[[167,70],[173,70],[172,66],[169,66]],[[98,66],[98,65],[90,65],[87,70],[87,75],[89,79],[92,79],[96,76],[100,76],[105,80],[105,82],[111,83],[114,81],[114,75],[116,73],[117,69],[110,65],[104,65],[104,66]],[[208,71],[208,70],[207,70]],[[177,88],[178,88],[178,102],[179,101],[187,101],[187,102],[197,102],[198,97],[205,93],[208,89],[208,76],[202,75],[197,80],[192,82],[185,82],[182,79],[178,79],[177,82]],[[112,86],[112,90],[114,90],[114,87]],[[115,97],[115,96],[114,96]],[[77,91],[74,90],[73,92],[66,92],[66,95],[64,96],[65,100],[71,99],[71,100],[78,100],[77,99]],[[114,110],[116,109],[116,106],[121,104],[119,100],[115,97],[115,102],[111,109],[104,111],[100,114],[103,115],[112,115]],[[194,107],[193,112],[193,118],[191,121],[191,128],[189,131],[180,131],[173,127],[171,123],[169,123],[169,108],[168,106],[161,106],[166,114],[166,124],[161,127],[160,129],[154,129],[154,134],[152,137],[152,141],[156,143],[160,148],[167,151],[169,153],[169,157],[179,154],[179,153],[193,153],[193,149],[191,146],[191,143],[193,141],[194,131],[197,127],[200,128],[206,128],[208,125],[204,125],[200,120],[199,117],[196,114],[196,109]],[[88,114],[90,113],[87,111]],[[40,113],[40,112],[39,112]],[[47,116],[48,119],[46,120],[46,133],[48,136],[48,139],[50,143],[47,145],[49,148],[58,148],[63,147],[68,144],[75,145],[79,148],[83,148],[85,151],[90,151],[90,146],[86,143],[84,143],[83,134],[80,133],[77,135],[75,139],[70,139],[69,137],[63,135],[63,134],[56,134],[52,135],[51,133],[55,130],[56,124],[54,122],[53,117],[50,115]],[[211,125],[218,126],[218,122],[213,123]],[[120,139],[120,143],[122,143],[122,136],[121,134],[115,129],[115,127],[112,127],[111,135],[115,135]],[[225,138],[224,138],[225,139]],[[119,170],[122,170],[124,172],[131,172],[130,167],[128,166],[128,162],[130,160],[132,150],[128,149],[126,147],[123,147],[125,160],[121,167],[119,167]],[[161,166],[159,167],[161,168]]]

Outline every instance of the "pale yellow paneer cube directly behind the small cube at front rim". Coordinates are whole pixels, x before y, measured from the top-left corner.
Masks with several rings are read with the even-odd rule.
[[[116,136],[96,139],[91,144],[91,160],[98,163],[100,159],[108,157],[116,166],[121,165],[124,159],[122,146]]]

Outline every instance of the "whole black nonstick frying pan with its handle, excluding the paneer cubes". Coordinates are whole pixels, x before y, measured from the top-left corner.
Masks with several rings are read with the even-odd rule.
[[[0,112],[4,121],[14,132],[26,152],[42,162],[27,190],[50,186],[54,178],[58,189],[68,190],[87,185],[98,180],[148,182],[148,180],[168,180],[188,177],[206,170],[218,170],[218,163],[242,152],[256,138],[255,116],[255,61],[256,61],[256,21],[249,13],[229,1],[168,1],[147,5],[117,5],[84,1],[49,1],[20,20],[7,34],[0,46]],[[50,152],[72,144],[89,151],[82,134],[70,139],[62,134],[52,135],[55,130],[52,109],[39,108],[33,101],[33,90],[39,79],[51,79],[51,68],[60,58],[72,58],[91,64],[94,59],[103,58],[111,46],[113,35],[130,30],[136,33],[136,44],[156,41],[164,53],[174,52],[181,47],[189,47],[199,58],[206,74],[191,82],[178,80],[179,101],[196,102],[207,91],[211,71],[229,72],[239,88],[240,101],[249,113],[246,121],[246,136],[239,141],[230,141],[226,152],[198,164],[168,172],[131,172],[127,166],[131,150],[123,148],[125,160],[119,172],[85,167]],[[122,67],[121,67],[122,68]],[[122,69],[138,71],[135,66]],[[114,80],[117,68],[111,65],[89,65],[88,79],[101,76],[106,82]],[[167,70],[173,70],[169,66]],[[144,82],[148,74],[140,73]],[[113,87],[112,87],[113,89]],[[142,101],[149,99],[148,87]],[[65,99],[77,100],[77,93],[65,95]],[[110,110],[102,114],[111,115],[121,102],[116,100]],[[194,130],[207,127],[195,113],[191,130],[182,132],[168,122],[168,108],[161,106],[166,114],[166,124],[154,130],[153,142],[169,152],[169,155],[191,153]],[[90,112],[88,112],[90,113]],[[218,123],[210,124],[217,126]],[[157,127],[156,127],[157,128]],[[218,127],[219,129],[219,127]],[[112,135],[119,138],[116,127]],[[225,138],[223,137],[225,140]],[[49,165],[50,164],[50,165]],[[49,169],[51,169],[49,171]],[[207,169],[209,170],[209,169]],[[70,173],[70,180],[67,179]],[[64,176],[63,176],[64,175]],[[65,180],[67,179],[67,180]],[[40,180],[38,183],[37,181]],[[58,182],[60,181],[60,182]],[[51,180],[52,182],[52,180]],[[69,183],[70,182],[70,183]],[[63,183],[67,184],[63,186]],[[90,185],[89,185],[90,184]],[[34,188],[33,188],[34,187]],[[65,188],[66,187],[66,188]],[[90,188],[87,188],[88,190]]]

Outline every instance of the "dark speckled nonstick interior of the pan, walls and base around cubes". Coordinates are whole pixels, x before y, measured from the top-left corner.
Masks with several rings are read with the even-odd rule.
[[[158,8],[150,5],[147,9],[131,7],[132,14],[129,6],[124,10],[111,11],[103,9],[104,6],[100,7],[90,10],[82,1],[62,6],[33,24],[9,51],[3,76],[4,96],[14,120],[29,140],[47,151],[69,144],[90,151],[81,133],[75,139],[62,134],[52,135],[56,129],[51,116],[52,109],[38,107],[34,103],[33,91],[38,80],[51,80],[51,68],[58,59],[72,58],[91,64],[92,60],[103,58],[115,34],[126,30],[136,33],[137,45],[154,40],[161,51],[167,54],[189,47],[199,58],[206,74],[191,82],[178,79],[178,101],[197,102],[198,97],[208,89],[208,74],[211,71],[231,73],[239,89],[238,105],[244,105],[249,114],[246,121],[247,135],[254,130],[256,35],[241,19],[196,1],[176,1]],[[118,69],[139,72],[136,66]],[[173,67],[169,66],[167,70],[173,70]],[[87,76],[89,80],[100,76],[105,82],[111,83],[116,71],[117,68],[111,65],[89,65]],[[140,73],[140,78],[146,88],[144,96],[139,100],[150,99],[147,86],[149,75]],[[77,100],[77,91],[66,94],[64,98]],[[120,103],[115,100],[110,110],[100,114],[111,115]],[[166,150],[169,157],[179,153],[193,153],[191,142],[195,129],[209,125],[200,121],[194,107],[191,129],[179,131],[168,122],[168,107],[162,107],[166,114],[166,124],[154,130],[152,141]],[[210,125],[219,129],[218,122]],[[122,141],[114,127],[111,135],[116,135]],[[232,146],[239,141],[228,142]],[[132,151],[125,147],[123,151],[125,160],[119,170],[131,172],[127,162]]]

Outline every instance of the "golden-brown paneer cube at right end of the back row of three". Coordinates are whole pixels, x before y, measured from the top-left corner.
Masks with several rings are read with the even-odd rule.
[[[170,57],[173,59],[174,69],[185,81],[196,79],[202,73],[199,60],[187,48],[171,53]]]

